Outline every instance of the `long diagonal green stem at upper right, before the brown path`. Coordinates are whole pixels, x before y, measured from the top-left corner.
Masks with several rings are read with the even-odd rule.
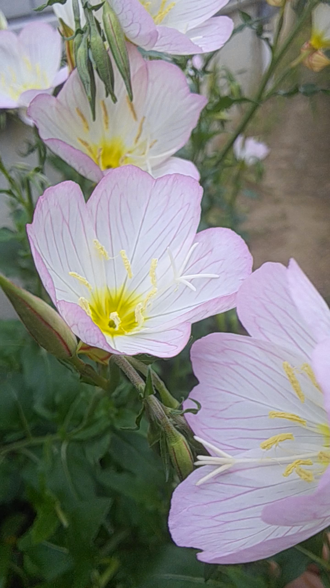
[[[278,53],[277,53],[277,46],[275,46],[275,44],[273,45],[272,59],[271,59],[271,62],[270,62],[270,65],[269,65],[267,71],[265,71],[264,75],[262,76],[261,83],[258,88],[258,92],[255,95],[250,108],[247,109],[247,111],[245,112],[245,115],[243,116],[243,119],[241,119],[241,122],[238,125],[236,131],[233,133],[233,135],[231,135],[230,139],[228,139],[224,148],[220,152],[220,155],[219,155],[217,161],[214,163],[214,166],[217,166],[219,163],[221,163],[223,161],[223,159],[225,158],[227,153],[233,147],[234,142],[236,141],[238,135],[240,135],[244,131],[245,127],[250,122],[255,111],[261,105],[262,98],[264,95],[264,90],[267,86],[268,81],[270,80],[271,76],[274,74],[275,69],[277,68],[278,64],[280,63],[282,57],[285,55],[285,52],[287,51],[289,45],[291,45],[292,41],[294,41],[295,37],[297,36],[298,32],[300,31],[302,24],[304,24],[304,22],[305,22],[305,19],[307,19],[307,17],[311,14],[312,9],[314,8],[314,6],[316,4],[317,4],[317,2],[314,0],[313,2],[311,2],[311,4],[309,4],[307,6],[307,8],[305,8],[304,12],[302,12],[301,16],[298,18],[297,23],[295,24],[291,33],[285,39],[285,41],[284,41],[283,45],[281,46],[280,51],[278,51]],[[280,21],[278,23],[278,29],[281,26],[282,26],[282,24],[281,24],[281,19],[280,19]],[[278,31],[278,29],[277,29],[277,31]],[[279,37],[280,37],[280,34],[277,34],[277,32],[276,32],[275,39],[277,39],[277,42],[278,42]]]

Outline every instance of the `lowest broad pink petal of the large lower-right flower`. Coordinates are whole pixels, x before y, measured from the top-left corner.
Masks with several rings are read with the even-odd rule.
[[[324,529],[330,516],[315,523],[280,527],[261,518],[283,496],[301,492],[301,480],[283,479],[280,466],[226,472],[196,486],[209,466],[196,470],[174,490],[169,528],[181,547],[203,549],[208,563],[244,563],[288,549]]]

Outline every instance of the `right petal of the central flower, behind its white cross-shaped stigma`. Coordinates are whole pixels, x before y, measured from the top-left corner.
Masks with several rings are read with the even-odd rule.
[[[203,230],[197,233],[194,243],[198,245],[184,268],[183,275],[204,273],[218,277],[187,278],[196,288],[195,292],[184,283],[178,283],[176,288],[169,288],[159,295],[150,310],[148,325],[151,329],[176,324],[178,320],[196,322],[216,312],[233,308],[235,298],[232,295],[251,272],[252,258],[247,245],[234,231],[224,228]],[[169,271],[166,267],[164,269]],[[177,269],[179,270],[179,263]],[[173,272],[171,269],[170,271]],[[160,272],[159,281],[161,288]]]

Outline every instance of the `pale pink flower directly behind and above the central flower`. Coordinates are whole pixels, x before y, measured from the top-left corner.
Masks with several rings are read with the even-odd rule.
[[[96,120],[74,71],[58,96],[37,96],[29,116],[46,145],[94,182],[109,171],[132,163],[154,177],[179,172],[198,178],[190,161],[171,157],[187,141],[206,98],[193,94],[176,65],[145,61],[129,45],[133,102],[116,70],[117,103],[105,96],[96,75]]]

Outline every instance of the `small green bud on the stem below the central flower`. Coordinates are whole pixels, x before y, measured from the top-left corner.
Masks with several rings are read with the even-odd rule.
[[[158,437],[164,465],[166,466],[170,460],[179,479],[184,480],[194,469],[193,454],[186,437],[170,422],[156,396],[150,395],[144,398],[144,407],[154,439],[157,438],[156,432],[159,430]]]

